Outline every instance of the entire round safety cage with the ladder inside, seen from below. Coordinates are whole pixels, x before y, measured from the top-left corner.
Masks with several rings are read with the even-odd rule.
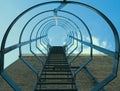
[[[92,20],[93,17],[97,20]],[[87,22],[87,20],[92,22]],[[100,22],[104,26],[102,30],[98,30]],[[50,35],[53,30],[60,30],[65,37],[59,36],[58,39],[51,39],[51,36],[56,35]],[[113,49],[99,46],[94,42],[95,36],[98,39],[101,38],[97,34],[104,35],[108,32],[110,37],[106,36],[106,38],[114,41],[114,43],[109,42],[108,45],[112,45]],[[17,36],[16,40],[11,37],[13,34]],[[59,39],[64,42],[60,42]],[[56,41],[62,44],[52,45],[51,42]],[[115,26],[98,9],[82,2],[69,0],[40,3],[19,14],[7,28],[0,49],[0,75],[15,91],[22,91],[5,71],[5,57],[9,53],[14,55],[15,52],[37,77],[33,91],[78,91],[80,88],[77,85],[76,77],[83,69],[95,82],[90,91],[105,91],[104,86],[117,76],[119,44]],[[78,58],[86,49],[87,58],[79,64],[82,59],[78,60]],[[112,59],[110,64],[112,68],[101,81],[94,75],[94,69],[90,70],[88,67],[93,62],[95,51]],[[42,64],[40,70],[24,58],[25,53],[33,55]],[[38,54],[44,56],[45,59]],[[108,62],[109,60],[104,61]],[[74,63],[78,66],[74,67]]]

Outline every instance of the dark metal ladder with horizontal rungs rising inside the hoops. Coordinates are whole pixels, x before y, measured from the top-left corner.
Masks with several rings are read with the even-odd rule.
[[[34,91],[78,91],[64,47],[54,46],[38,76]]]

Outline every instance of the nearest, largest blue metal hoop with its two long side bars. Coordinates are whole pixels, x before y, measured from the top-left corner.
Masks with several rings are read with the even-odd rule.
[[[37,4],[35,6],[32,6],[30,8],[28,8],[27,10],[25,10],[24,12],[22,12],[20,15],[18,15],[14,20],[13,22],[10,24],[10,26],[7,28],[6,32],[5,32],[5,35],[3,37],[3,40],[2,40],[2,44],[1,44],[1,50],[0,50],[0,75],[3,77],[3,79],[5,79],[7,81],[7,83],[16,91],[21,91],[21,89],[19,88],[19,86],[16,85],[16,83],[8,76],[8,74],[4,71],[4,55],[16,48],[19,48],[20,49],[20,57],[21,57],[21,47],[24,46],[24,45],[27,45],[29,43],[32,43],[34,41],[37,42],[37,40],[40,40],[41,41],[41,38],[45,37],[40,35],[40,37],[37,37],[35,39],[31,39],[30,37],[30,40],[28,41],[25,41],[25,42],[21,42],[19,41],[18,44],[15,44],[15,45],[12,45],[10,47],[7,47],[5,48],[5,44],[6,44],[6,40],[7,40],[7,36],[9,34],[9,32],[11,31],[12,27],[14,26],[14,24],[23,16],[25,15],[27,12],[33,10],[34,8],[37,8],[37,7],[40,7],[40,6],[43,6],[43,5],[46,5],[46,4],[53,4],[53,3],[60,3],[61,5],[58,6],[58,8],[55,9],[56,12],[59,12],[61,11],[62,8],[64,8],[65,5],[67,4],[73,4],[73,5],[80,5],[80,6],[83,6],[83,7],[86,7],[90,10],[92,10],[93,12],[96,12],[99,16],[101,16],[105,21],[106,23],[110,26],[113,34],[114,34],[114,39],[115,39],[115,51],[111,51],[111,50],[108,50],[108,49],[105,49],[105,48],[102,48],[102,47],[99,47],[97,45],[94,45],[92,43],[92,35],[90,34],[90,30],[88,29],[88,27],[86,26],[86,24],[76,15],[72,14],[71,12],[69,12],[69,14],[71,15],[74,15],[75,17],[79,18],[80,21],[82,21],[85,25],[85,27],[87,28],[88,33],[89,33],[89,36],[90,36],[90,43],[86,42],[86,41],[83,41],[82,39],[79,39],[75,36],[72,36],[71,34],[69,35],[69,39],[70,40],[76,40],[76,41],[79,41],[81,44],[83,45],[86,45],[86,46],[89,46],[91,48],[91,54],[90,54],[90,59],[88,61],[86,61],[80,68],[78,68],[75,73],[74,73],[74,76],[77,75],[78,72],[80,72],[82,70],[82,68],[85,68],[87,70],[87,72],[94,78],[94,80],[96,81],[97,85],[91,90],[91,91],[98,91],[100,89],[102,89],[105,85],[107,85],[110,81],[112,81],[116,76],[117,76],[117,71],[118,71],[118,64],[119,64],[119,53],[120,53],[120,40],[119,40],[119,36],[118,36],[118,32],[115,28],[115,26],[112,24],[112,22],[102,13],[100,12],[99,10],[97,10],[96,8],[90,6],[90,5],[87,5],[87,4],[84,4],[84,3],[81,3],[81,2],[75,2],[75,1],[51,1],[51,2],[45,2],[45,3],[41,3],[41,4]],[[68,11],[65,11],[65,12],[68,12]],[[32,19],[32,18],[31,18]],[[30,21],[30,20],[29,20]],[[28,22],[29,22],[28,21]],[[27,24],[27,23],[26,23]],[[25,25],[27,26],[27,25]],[[24,28],[25,28],[24,26]],[[24,29],[23,29],[24,30]],[[44,31],[45,32],[45,31]],[[32,32],[31,32],[31,35],[32,35]],[[22,34],[21,34],[22,36]],[[47,42],[47,39],[46,39],[46,42]],[[46,43],[44,41],[44,44]],[[72,43],[72,42],[70,42]],[[69,44],[69,42],[68,42]],[[98,82],[97,78],[94,77],[93,73],[87,68],[87,64],[92,60],[92,49],[96,49],[102,53],[105,53],[107,54],[108,56],[111,56],[114,58],[114,67],[113,67],[113,71],[112,73],[106,77],[102,82]],[[31,51],[32,52],[32,51]],[[24,60],[24,62],[26,63],[27,61]],[[72,63],[73,61],[71,61],[70,63]],[[31,68],[35,73],[37,73],[37,71],[31,67],[31,65],[29,65],[29,63],[26,63],[29,68]],[[104,91],[104,89],[102,89]]]

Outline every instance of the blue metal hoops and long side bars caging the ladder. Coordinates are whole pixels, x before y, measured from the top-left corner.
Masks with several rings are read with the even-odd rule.
[[[8,35],[12,31],[12,28],[14,27],[14,25],[19,21],[19,19],[21,19],[29,11],[32,11],[36,8],[39,8],[39,7],[42,7],[42,6],[45,6],[45,5],[53,5],[53,4],[57,4],[58,7],[48,9],[48,10],[45,10],[45,11],[40,11],[36,15],[32,16],[26,22],[26,24],[23,26],[23,28],[21,28],[22,30],[21,30],[21,33],[20,33],[20,36],[19,36],[18,43],[5,48],[6,40],[8,39]],[[100,46],[97,46],[97,45],[93,44],[91,30],[89,29],[89,27],[87,26],[85,21],[79,15],[76,15],[73,12],[70,12],[68,10],[64,10],[64,7],[66,7],[67,5],[82,6],[84,8],[87,8],[88,10],[93,11],[94,13],[99,15],[101,18],[103,18],[105,20],[105,22],[111,28],[111,31],[114,35],[115,50],[111,51],[109,49],[102,48]],[[47,13],[51,13],[51,15],[49,15],[49,14],[47,15]],[[35,26],[29,32],[29,34],[30,34],[29,40],[22,42],[22,38],[23,38],[22,35],[24,34],[24,31],[25,31],[26,27],[36,17],[38,17],[38,16],[41,17],[42,14],[46,14],[46,16],[44,16],[43,18],[40,18],[40,20],[36,22]],[[84,27],[86,28],[86,30],[84,30],[84,31],[87,31],[87,33],[89,35],[89,42],[83,40],[83,33],[82,33],[82,30],[80,29],[80,25],[77,22],[75,22],[74,20],[72,20],[71,18],[64,15],[64,14],[67,14],[67,15],[70,15],[70,16],[74,17],[75,19],[77,19],[79,22],[81,22],[84,25]],[[34,57],[38,61],[40,61],[40,63],[43,64],[42,67],[44,67],[45,60],[40,58],[33,51],[32,43],[35,44],[35,49],[38,50],[42,55],[44,55],[45,58],[47,58],[47,54],[49,53],[49,47],[51,46],[50,43],[49,43],[49,38],[48,38],[48,31],[50,30],[51,27],[56,26],[56,19],[57,19],[57,22],[58,22],[57,26],[60,26],[67,31],[67,39],[65,41],[65,44],[63,45],[63,46],[66,46],[65,48],[66,48],[67,57],[71,56],[78,48],[80,48],[80,50],[76,54],[76,56],[69,61],[70,67],[71,67],[71,64],[74,63],[76,61],[76,59],[82,54],[82,52],[84,50],[83,45],[88,46],[90,48],[89,58],[85,61],[85,63],[83,63],[79,68],[77,68],[73,72],[74,77],[76,77],[76,75],[82,69],[85,69],[88,72],[88,74],[90,74],[90,76],[96,82],[96,86],[93,89],[91,89],[91,91],[98,91],[100,89],[105,91],[104,86],[107,85],[110,81],[112,81],[117,76],[117,72],[118,72],[119,53],[120,53],[120,45],[119,45],[120,40],[119,40],[118,32],[117,32],[115,26],[113,25],[113,23],[102,12],[100,12],[99,10],[97,10],[96,8],[94,8],[90,5],[87,5],[87,4],[84,4],[84,3],[81,3],[81,2],[76,2],[76,1],[63,0],[63,1],[51,1],[51,2],[40,3],[40,4],[34,5],[30,8],[28,8],[28,9],[26,9],[25,11],[23,11],[20,15],[18,15],[13,20],[13,22],[9,25],[9,27],[7,28],[7,30],[5,32],[5,35],[3,37],[2,44],[1,44],[1,49],[0,49],[0,75],[2,76],[2,78],[14,90],[16,90],[16,91],[21,91],[22,90],[12,80],[12,78],[6,73],[6,71],[4,69],[5,55],[7,53],[17,49],[17,48],[19,48],[19,58],[36,74],[36,76],[39,75],[38,70],[35,69],[35,67],[33,67],[28,62],[28,60],[25,59],[22,56],[22,54],[23,54],[22,53],[22,47],[25,46],[25,45],[29,45],[29,51],[31,52],[31,54],[34,55]],[[37,27],[38,27],[38,29],[37,29]],[[35,31],[36,31],[36,35],[33,35]],[[32,36],[34,38],[32,38]],[[38,45],[41,46],[46,52],[43,51],[43,49],[41,49]],[[101,82],[98,81],[98,79],[94,76],[92,71],[87,67],[87,65],[93,60],[93,49],[96,49],[97,51],[100,51],[100,52],[102,52],[102,53],[104,53],[104,54],[106,54],[106,55],[108,55],[108,56],[110,56],[114,59],[112,73],[109,74],[109,76],[107,76]],[[68,51],[70,51],[70,52],[68,52]]]

